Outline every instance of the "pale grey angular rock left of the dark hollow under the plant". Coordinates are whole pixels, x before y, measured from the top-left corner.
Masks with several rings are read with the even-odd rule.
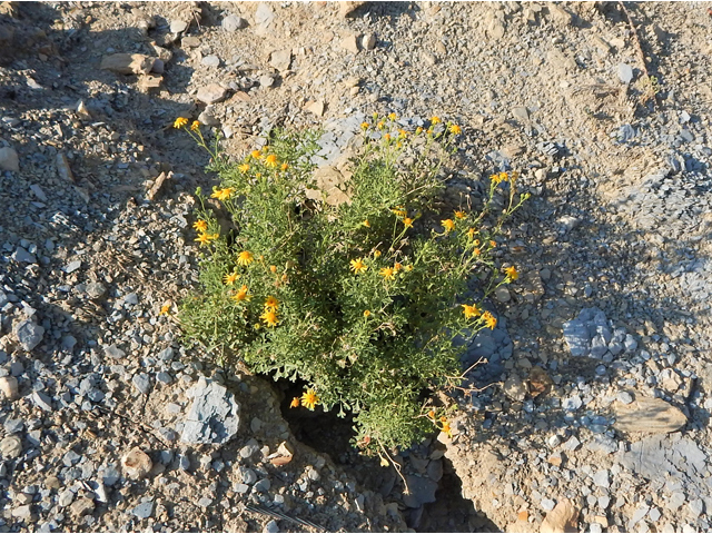
[[[240,406],[235,395],[225,386],[205,378],[200,378],[191,392],[194,400],[180,441],[224,444],[235,437],[240,424]]]

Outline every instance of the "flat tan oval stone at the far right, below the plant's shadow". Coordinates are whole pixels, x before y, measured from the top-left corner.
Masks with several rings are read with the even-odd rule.
[[[688,423],[688,418],[679,408],[662,398],[640,397],[627,405],[616,402],[613,411],[613,426],[621,432],[669,433]]]

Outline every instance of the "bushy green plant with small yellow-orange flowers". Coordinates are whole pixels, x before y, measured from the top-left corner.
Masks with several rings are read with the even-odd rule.
[[[478,212],[437,214],[441,168],[461,128],[434,117],[405,131],[393,115],[362,126],[340,182],[315,177],[315,132],[279,131],[239,162],[214,158],[220,209],[197,191],[202,289],[180,318],[221,363],[304,380],[293,407],[353,413],[355,443],[380,454],[434,428],[451,434],[427,399],[458,384],[463,347],[453,338],[496,325],[483,300],[518,275],[492,251],[526,197],[515,201],[515,174],[498,174]],[[473,275],[488,283],[479,301],[463,301]]]

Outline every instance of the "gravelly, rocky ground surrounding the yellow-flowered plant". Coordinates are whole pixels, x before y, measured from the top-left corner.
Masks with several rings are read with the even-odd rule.
[[[0,530],[709,530],[711,9],[0,3]],[[172,315],[214,180],[174,119],[236,157],[317,126],[334,159],[375,111],[462,125],[453,202],[533,195],[409,495]]]

